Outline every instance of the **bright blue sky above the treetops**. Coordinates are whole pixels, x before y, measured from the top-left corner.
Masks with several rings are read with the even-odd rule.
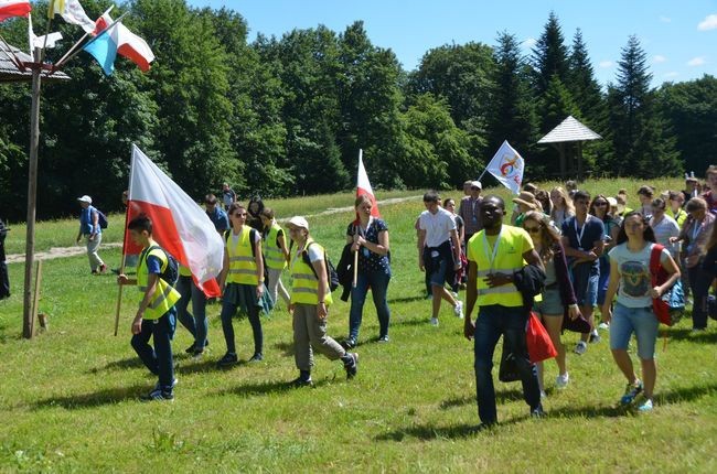
[[[292,29],[324,24],[341,32],[363,20],[373,44],[394,51],[414,69],[431,47],[470,41],[495,44],[507,31],[524,51],[555,11],[568,44],[582,30],[598,80],[614,80],[620,51],[635,34],[648,54],[653,85],[717,76],[717,0],[189,0],[196,7],[227,7],[258,32],[281,36]]]

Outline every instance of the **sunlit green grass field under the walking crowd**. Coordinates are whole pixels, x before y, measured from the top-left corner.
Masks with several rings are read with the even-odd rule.
[[[679,184],[655,183],[659,190]],[[627,187],[634,195],[639,183],[614,180],[585,187],[603,188],[608,195]],[[289,214],[306,203],[309,209],[302,214],[317,214],[351,201],[351,195],[310,204],[286,200],[276,207]],[[140,402],[138,396],[156,380],[129,346],[133,291],[125,294],[120,334],[114,337],[114,278],[90,277],[84,256],[45,261],[41,311],[50,314],[50,331],[24,341],[23,266],[10,265],[13,295],[0,302],[0,471],[717,471],[717,330],[711,321],[696,336],[689,334],[689,321],[661,330],[668,340],[666,348],[659,343],[652,413],[617,408],[624,381],[603,334],[586,355],[568,354],[566,390],[553,389],[557,369],[552,362],[546,365],[548,418],[528,417],[520,384],[496,381],[501,424],[474,433],[479,420],[472,344],[462,338],[462,322],[448,308],[439,327],[428,324],[413,229],[420,211],[420,201],[381,208],[393,254],[390,343],[373,342],[378,324],[367,302],[358,376],[346,381],[340,363],[319,356],[313,389],[285,386],[296,368],[290,319],[281,309],[264,319],[264,362],[215,369],[225,346],[220,306],[211,305],[208,356],[185,356],[191,337],[178,327],[176,399]],[[309,219],[312,234],[334,259],[352,218],[347,212]],[[121,228],[121,220],[114,218],[110,228]],[[41,223],[39,241],[49,243],[56,234],[72,239],[75,229],[74,220]],[[114,266],[119,254],[114,249],[103,256]],[[347,314],[347,303],[331,308],[331,335],[346,334]],[[235,330],[239,358],[246,360],[253,349],[249,324],[235,321]],[[577,338],[566,334],[564,341],[571,349]]]

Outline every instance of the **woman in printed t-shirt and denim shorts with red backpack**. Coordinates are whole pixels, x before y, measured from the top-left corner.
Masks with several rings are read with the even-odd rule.
[[[621,405],[631,405],[640,392],[644,399],[638,405],[640,411],[652,410],[652,397],[657,378],[655,365],[655,342],[657,341],[657,316],[652,311],[652,299],[659,298],[679,279],[679,268],[666,249],[660,255],[660,263],[668,273],[667,280],[652,287],[650,256],[655,235],[649,222],[639,213],[624,216],[618,245],[610,250],[610,283],[602,305],[602,315],[610,322],[610,349],[612,358],[628,379]],[[610,303],[618,300],[614,311]],[[628,354],[628,344],[634,333],[638,340],[638,357],[642,366],[642,380],[638,378]]]

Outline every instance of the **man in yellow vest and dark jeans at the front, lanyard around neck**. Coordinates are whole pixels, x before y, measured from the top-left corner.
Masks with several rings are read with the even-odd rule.
[[[503,335],[516,359],[523,381],[523,396],[531,414],[542,417],[541,389],[537,371],[527,355],[525,328],[528,314],[523,295],[514,284],[514,273],[525,262],[543,268],[528,234],[518,227],[503,224],[505,203],[497,196],[486,196],[481,203],[483,229],[468,243],[467,312],[463,334],[474,340],[475,387],[480,429],[497,422],[495,389],[493,387],[493,352]],[[479,312],[471,321],[473,308]]]

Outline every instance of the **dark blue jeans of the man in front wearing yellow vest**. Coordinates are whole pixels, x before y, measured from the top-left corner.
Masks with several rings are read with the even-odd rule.
[[[503,306],[491,304],[481,306],[475,320],[474,354],[475,354],[475,389],[478,416],[483,423],[495,423],[495,387],[493,386],[493,353],[497,340],[503,335],[506,344],[515,356],[521,381],[523,398],[534,410],[541,407],[541,388],[538,387],[537,369],[527,355],[525,342],[525,325],[527,314],[523,306]]]

